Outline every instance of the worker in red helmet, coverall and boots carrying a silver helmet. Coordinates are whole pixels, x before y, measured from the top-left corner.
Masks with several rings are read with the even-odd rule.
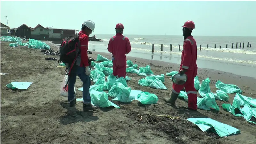
[[[194,77],[197,75],[197,45],[195,39],[191,36],[192,30],[195,29],[195,24],[193,21],[187,21],[182,27],[184,44],[179,73],[181,75],[185,73],[187,75],[187,81],[183,85],[173,83],[171,97],[168,99],[165,98],[164,100],[175,105],[180,91],[185,87],[188,95],[188,109],[197,110],[197,92],[194,87]]]

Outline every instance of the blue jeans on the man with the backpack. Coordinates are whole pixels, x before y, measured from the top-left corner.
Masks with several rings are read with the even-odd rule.
[[[90,76],[85,74],[85,67],[80,67],[77,65],[73,66],[69,75],[68,102],[76,100],[75,92],[74,92],[76,76],[78,76],[83,82],[83,103],[89,105],[91,104],[91,96],[89,92],[89,89],[91,86]]]

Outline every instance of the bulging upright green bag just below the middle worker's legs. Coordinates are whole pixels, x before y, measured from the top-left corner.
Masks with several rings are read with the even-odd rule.
[[[130,92],[130,87],[125,87],[124,84],[116,82],[116,84],[108,91],[108,96],[111,98],[116,98],[118,96],[118,101],[127,102],[129,100]]]

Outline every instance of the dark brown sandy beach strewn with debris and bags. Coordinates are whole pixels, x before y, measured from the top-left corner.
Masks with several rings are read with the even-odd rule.
[[[57,50],[55,44],[49,44]],[[110,53],[92,51],[88,54],[96,60],[97,54],[110,59]],[[138,80],[144,78],[137,74],[127,73],[131,78],[127,81],[132,90],[154,93],[158,96],[157,104],[141,105],[137,100],[125,104],[114,102],[117,108],[99,108],[94,112],[83,112],[83,104],[76,103],[70,108],[67,98],[60,96],[60,85],[65,75],[65,68],[58,68],[57,61],[46,61],[40,50],[23,46],[9,47],[8,42],[1,41],[1,143],[3,144],[254,144],[256,143],[256,124],[247,122],[243,117],[233,116],[222,108],[223,101],[216,100],[220,111],[198,109],[197,112],[185,109],[188,105],[178,99],[177,108],[164,102],[164,97],[171,94],[172,81],[165,76],[165,86],[168,90],[158,90],[143,87]],[[177,71],[178,64],[127,57],[139,67],[150,65],[154,75]],[[211,91],[217,88],[215,83],[220,80],[226,84],[235,84],[243,90],[243,95],[256,98],[256,79],[234,75],[227,72],[209,69],[198,69],[200,83],[210,78]],[[15,91],[6,88],[11,82],[33,82],[25,91]],[[93,85],[93,82],[91,83]],[[82,87],[77,77],[76,88]],[[76,89],[78,98],[82,92]],[[235,94],[228,94],[232,104]],[[199,97],[199,94],[198,94]],[[109,98],[110,99],[110,98]],[[146,121],[146,114],[171,115],[182,119],[212,118],[216,121],[233,126],[241,134],[219,138],[218,135],[202,132],[195,124],[187,120],[170,120],[153,117],[155,124]],[[138,115],[142,116],[142,120]],[[145,116],[145,117],[144,117]]]

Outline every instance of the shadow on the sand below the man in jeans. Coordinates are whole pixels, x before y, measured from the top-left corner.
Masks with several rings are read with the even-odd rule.
[[[98,120],[98,116],[93,116],[93,111],[79,111],[76,107],[69,107],[69,103],[60,103],[63,108],[67,108],[66,115],[60,117],[60,123],[67,125],[71,123],[77,123],[80,121],[90,122]]]

